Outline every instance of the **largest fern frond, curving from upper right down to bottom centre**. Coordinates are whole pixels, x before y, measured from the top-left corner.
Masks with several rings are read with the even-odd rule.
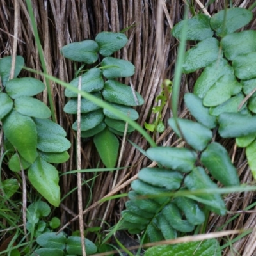
[[[193,93],[184,96],[196,122],[168,120],[189,148],[147,150],[147,156],[159,167],[143,168],[138,180],[131,184],[127,209],[122,211],[122,228],[132,234],[143,232],[151,242],[175,238],[204,223],[205,209],[220,215],[227,213],[220,195],[193,194],[197,189],[216,189],[211,177],[223,186],[239,185],[237,169],[227,150],[213,141],[213,129],[218,129],[223,138],[236,138],[239,147],[246,147],[256,177],[256,33],[236,32],[250,20],[249,10],[230,8],[212,18],[198,14],[174,26],[172,35],[176,38],[181,38],[186,29],[186,40],[200,41],[186,52],[182,65],[184,74],[203,69]],[[175,195],[177,190],[184,196]],[[166,195],[168,192],[174,196]]]

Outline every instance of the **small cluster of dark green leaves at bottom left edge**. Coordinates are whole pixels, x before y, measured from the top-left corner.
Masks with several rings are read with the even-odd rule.
[[[48,232],[38,236],[36,243],[42,246],[42,248],[35,251],[40,256],[46,255],[44,254],[46,252],[52,252],[51,255],[54,256],[67,255],[66,252],[68,255],[83,255],[81,248],[81,237],[79,236],[66,237],[63,233],[56,234],[55,232]],[[84,239],[84,243],[86,246],[86,255],[92,255],[97,252],[97,246],[95,246],[92,241]]]

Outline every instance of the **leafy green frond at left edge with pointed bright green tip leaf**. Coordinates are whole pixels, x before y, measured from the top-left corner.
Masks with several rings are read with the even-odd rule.
[[[12,153],[8,166],[13,172],[29,169],[31,184],[57,207],[60,204],[59,175],[50,163],[67,161],[69,155],[66,150],[71,144],[65,138],[64,129],[48,119],[51,117],[50,109],[33,97],[45,89],[44,83],[31,77],[16,78],[23,65],[23,58],[17,56],[15,78],[8,80],[11,58],[0,60],[0,75],[5,86],[4,92],[0,93],[0,120],[4,149]],[[44,229],[44,223],[40,228]]]

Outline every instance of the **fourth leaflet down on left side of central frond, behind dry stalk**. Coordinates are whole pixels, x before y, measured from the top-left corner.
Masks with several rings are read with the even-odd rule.
[[[104,118],[102,109],[92,111],[81,115],[81,131],[88,131],[99,125]],[[74,122],[72,128],[77,131],[77,121]]]

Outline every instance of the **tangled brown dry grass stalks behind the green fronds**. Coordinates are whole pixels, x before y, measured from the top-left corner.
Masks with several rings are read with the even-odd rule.
[[[18,0],[1,0],[0,6],[0,56],[8,56],[13,54],[13,17],[14,2]],[[143,126],[144,122],[152,122],[154,115],[150,115],[152,106],[156,105],[155,99],[161,90],[163,79],[173,78],[173,70],[175,60],[177,58],[177,41],[170,35],[170,29],[173,24],[182,20],[182,13],[186,1],[170,0],[33,0],[33,11],[36,17],[36,24],[42,49],[44,51],[45,63],[47,64],[47,72],[63,81],[71,81],[74,77],[74,70],[77,68],[74,63],[65,60],[60,54],[60,49],[70,42],[79,42],[87,38],[95,38],[100,31],[118,32],[122,29],[130,27],[125,34],[129,38],[129,42],[118,52],[118,56],[134,63],[136,73],[131,79],[125,79],[125,83],[131,84],[141,93],[145,99],[145,104],[138,108],[140,119],[138,123]],[[189,1],[194,4],[196,12],[202,12],[202,6],[206,6],[205,10],[210,15],[223,9],[225,2],[228,1]],[[233,6],[241,6],[248,8],[254,1],[236,0],[232,1]],[[202,6],[200,5],[202,4]],[[18,28],[18,44],[17,54],[25,58],[26,66],[42,71],[38,49],[35,44],[33,29],[26,8],[25,1],[19,1],[19,28]],[[255,9],[253,10],[255,13]],[[255,29],[255,22],[250,24],[251,29]],[[28,74],[24,71],[24,76],[36,76],[38,79],[44,80],[44,77],[34,74]],[[184,93],[189,92],[193,88],[196,74],[192,76],[183,76],[180,98],[179,98],[179,115],[189,115],[184,108],[182,98]],[[72,116],[63,112],[65,105],[64,89],[51,82],[52,95],[54,95],[55,115],[58,123],[65,128],[68,139],[72,141],[70,150],[70,161],[60,166],[61,172],[65,173],[69,170],[76,170],[76,149],[75,140],[72,129]],[[40,98],[47,104],[47,92],[42,93]],[[171,112],[168,104],[164,108],[163,121],[166,127],[167,120],[170,118]],[[140,134],[134,132],[129,138],[144,150],[147,149],[147,141],[143,140]],[[161,136],[156,135],[156,141],[159,145],[172,145],[179,143],[170,129],[166,129]],[[252,175],[246,164],[244,150],[237,150],[234,147],[234,141],[222,141],[230,150],[230,156],[233,156],[234,163],[239,169],[241,182],[252,182]],[[96,168],[99,163],[99,157],[93,148],[92,141],[82,141],[82,166],[81,168]],[[121,166],[130,166],[120,170],[117,177],[116,186],[124,184],[125,180],[130,179],[143,166],[148,166],[150,162],[143,155],[125,141],[125,150],[122,155]],[[3,170],[4,175],[10,175],[8,170]],[[102,172],[100,175],[93,173],[83,174],[83,179],[92,180],[83,186],[84,207],[88,207],[97,202],[103,196],[107,195],[113,189],[113,172]],[[94,178],[94,179],[93,179]],[[63,175],[60,180],[61,195],[68,195],[61,203],[60,214],[61,222],[67,223],[77,214],[77,193],[70,193],[76,188],[75,175]],[[89,188],[92,188],[90,190]],[[121,190],[125,192],[129,189],[126,186]],[[236,212],[245,209],[254,201],[254,193],[236,193],[228,195],[226,198],[228,209],[230,212]],[[84,215],[84,223],[91,227],[100,224],[100,219],[115,223],[120,217],[120,211],[124,207],[123,200],[113,200],[109,207],[108,204],[98,205],[92,208]],[[255,209],[256,210],[256,209]],[[233,213],[227,216],[217,217],[211,216],[207,231],[214,232],[228,223]],[[221,230],[232,230],[237,228],[255,227],[256,212],[240,214],[238,218],[230,221]],[[89,224],[88,224],[89,223]],[[74,222],[70,226],[77,229],[77,223]],[[232,239],[233,237],[229,237]],[[223,255],[256,255],[253,254],[256,246],[256,233],[239,239],[233,244],[232,250],[226,248]],[[237,254],[236,254],[237,253]]]

